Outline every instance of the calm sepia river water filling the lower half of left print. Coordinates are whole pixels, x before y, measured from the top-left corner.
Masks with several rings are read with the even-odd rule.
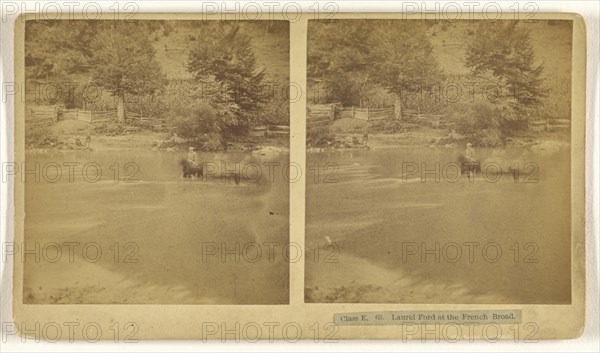
[[[30,248],[40,244],[41,261],[25,264],[26,302],[287,303],[289,270],[281,256],[289,242],[287,181],[281,174],[256,178],[256,169],[246,173],[252,180],[239,183],[232,175],[183,179],[184,156],[28,154],[28,169],[39,163],[39,181],[35,172],[27,175],[25,241]],[[236,162],[284,166],[289,160],[287,154],[198,157],[230,170]],[[55,263],[48,261],[55,254],[44,253],[56,252],[49,243],[62,247]],[[75,244],[72,261],[69,243]],[[257,256],[265,243],[275,244],[271,258]]]

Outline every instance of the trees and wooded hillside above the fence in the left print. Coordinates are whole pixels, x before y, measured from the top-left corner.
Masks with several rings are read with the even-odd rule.
[[[28,21],[26,78],[74,87],[37,104],[133,111],[219,144],[289,124],[287,97],[268,94],[289,84],[288,38],[283,21]]]

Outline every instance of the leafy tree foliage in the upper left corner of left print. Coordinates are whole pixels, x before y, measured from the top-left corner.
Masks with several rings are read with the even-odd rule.
[[[71,81],[78,94],[85,85],[98,86],[117,98],[117,107],[126,94],[152,94],[164,84],[164,76],[148,39],[157,26],[151,22],[27,21],[26,76]],[[67,106],[80,98],[63,93]]]

